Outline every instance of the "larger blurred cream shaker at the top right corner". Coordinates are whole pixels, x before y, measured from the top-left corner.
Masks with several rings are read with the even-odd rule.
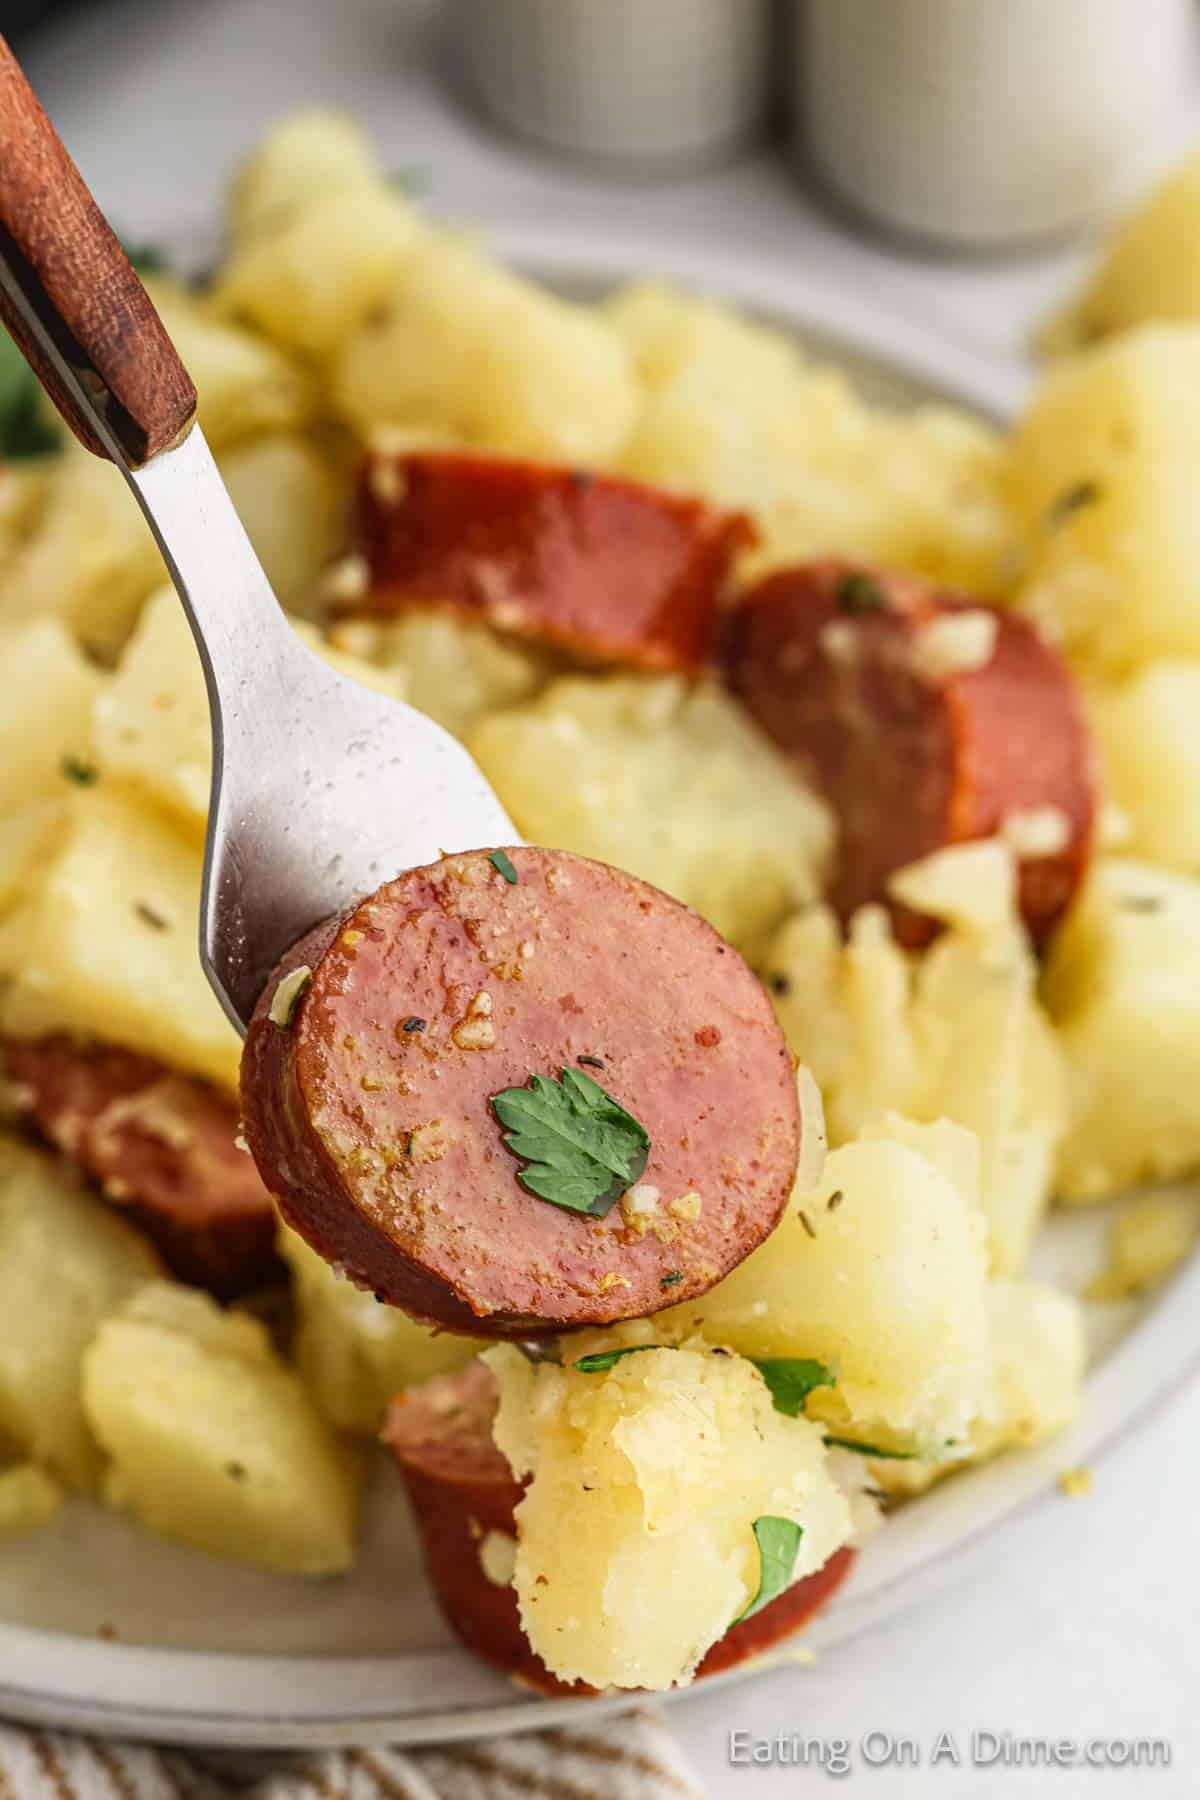
[[[1195,0],[799,0],[806,157],[853,209],[946,247],[1119,203],[1193,79]]]

